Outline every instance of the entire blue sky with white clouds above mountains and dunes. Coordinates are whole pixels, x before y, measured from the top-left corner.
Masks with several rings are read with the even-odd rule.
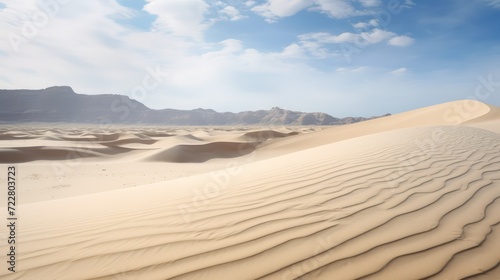
[[[499,0],[0,0],[0,88],[159,108],[500,105]]]

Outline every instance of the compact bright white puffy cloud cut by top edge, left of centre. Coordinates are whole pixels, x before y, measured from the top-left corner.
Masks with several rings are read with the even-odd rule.
[[[205,19],[209,5],[204,0],[147,0],[144,10],[158,16],[154,25],[176,36],[201,40],[209,23]]]

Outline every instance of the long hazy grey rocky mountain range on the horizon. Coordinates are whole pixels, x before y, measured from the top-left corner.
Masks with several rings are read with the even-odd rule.
[[[374,117],[375,118],[375,117]],[[0,90],[0,122],[67,122],[162,125],[342,125],[371,118],[335,118],[274,107],[219,113],[210,109],[153,110],[125,95],[77,94],[71,87]]]

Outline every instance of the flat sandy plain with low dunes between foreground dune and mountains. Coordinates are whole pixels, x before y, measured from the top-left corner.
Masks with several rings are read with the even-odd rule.
[[[3,127],[0,164],[21,164],[20,202],[31,203],[253,162],[255,154],[249,153],[263,142],[321,129],[325,127]]]

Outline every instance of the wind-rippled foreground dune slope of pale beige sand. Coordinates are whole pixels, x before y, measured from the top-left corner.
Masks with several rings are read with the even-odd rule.
[[[425,127],[249,164],[188,220],[187,193],[151,192],[26,224],[0,278],[500,279],[499,151],[489,131]]]

